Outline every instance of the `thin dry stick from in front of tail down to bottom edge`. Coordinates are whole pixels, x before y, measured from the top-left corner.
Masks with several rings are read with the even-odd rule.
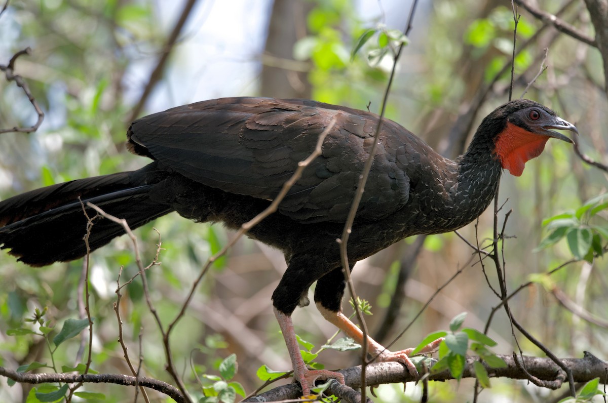
[[[139,274],[142,276],[143,294],[145,295],[146,303],[148,304],[148,309],[150,310],[151,314],[153,315],[154,320],[156,320],[156,325],[158,326],[158,328],[161,331],[161,334],[163,336],[165,358],[167,359],[167,367],[165,369],[171,375],[171,377],[173,377],[173,380],[176,382],[176,384],[178,384],[178,388],[181,391],[181,393],[184,395],[184,399],[186,401],[190,401],[190,398],[188,397],[184,382],[182,381],[181,377],[179,377],[178,371],[176,370],[175,365],[173,364],[173,355],[171,354],[171,349],[169,348],[168,331],[165,332],[165,330],[162,326],[161,317],[159,317],[159,314],[156,311],[156,308],[154,308],[154,305],[150,298],[150,289],[148,288],[148,280],[147,280],[147,277],[145,274],[146,269],[145,269],[145,267],[143,267],[142,259],[141,259],[140,253],[139,253],[139,246],[137,246],[137,237],[134,235],[133,231],[131,231],[131,227],[129,227],[129,224],[126,222],[126,219],[120,219],[115,216],[112,216],[112,215],[104,212],[101,208],[97,207],[96,205],[92,204],[91,202],[87,202],[86,205],[93,208],[95,211],[97,211],[103,217],[105,217],[113,222],[116,222],[117,224],[122,226],[123,229],[125,230],[126,235],[128,235],[129,238],[131,239],[131,243],[133,243],[133,247],[135,249],[135,261],[136,261],[137,267],[139,268]]]

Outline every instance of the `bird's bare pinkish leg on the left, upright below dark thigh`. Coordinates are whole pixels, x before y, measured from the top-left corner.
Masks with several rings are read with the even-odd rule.
[[[328,370],[309,370],[302,359],[298,341],[295,338],[294,324],[291,322],[291,315],[285,314],[274,308],[274,315],[277,317],[278,326],[283,332],[283,338],[289,351],[289,357],[294,367],[294,379],[300,382],[303,396],[310,394],[310,388],[314,386],[317,379],[327,380],[331,378],[337,379],[340,384],[344,385],[344,375],[339,372]]]

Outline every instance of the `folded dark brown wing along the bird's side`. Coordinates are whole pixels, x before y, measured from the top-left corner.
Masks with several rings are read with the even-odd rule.
[[[272,200],[334,116],[322,155],[306,167],[279,211],[303,222],[344,222],[373,141],[374,114],[308,100],[221,98],[143,117],[128,137],[132,151],[193,181]],[[406,142],[420,140],[394,122],[385,120],[383,127],[358,219],[385,218],[409,198],[399,157],[404,145],[395,133]]]

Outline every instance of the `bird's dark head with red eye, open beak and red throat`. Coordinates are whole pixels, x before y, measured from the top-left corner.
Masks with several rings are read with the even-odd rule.
[[[499,123],[494,131],[494,154],[503,168],[514,176],[520,176],[525,163],[539,156],[547,140],[573,141],[551,129],[569,130],[578,134],[575,125],[551,111],[551,109],[530,100],[514,100],[500,106],[488,118]],[[487,119],[487,118],[486,118]]]

